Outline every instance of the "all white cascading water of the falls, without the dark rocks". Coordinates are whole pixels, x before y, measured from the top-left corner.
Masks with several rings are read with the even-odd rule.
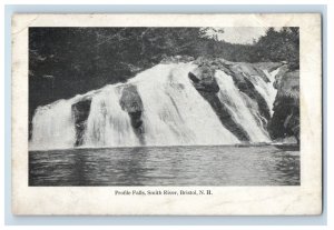
[[[39,107],[32,120],[29,147],[73,148],[76,130],[71,106],[88,94],[92,100],[82,147],[140,146],[128,113],[119,104],[121,90],[127,84],[137,87],[143,101],[146,146],[238,143],[238,139],[222,124],[210,104],[194,88],[188,72],[195,68],[191,63],[158,64],[127,83],[110,84],[85,96]],[[272,72],[271,77],[275,78],[276,73]],[[269,141],[262,126],[257,103],[235,87],[230,76],[217,71],[216,79],[220,88],[219,100],[249,134],[250,141]],[[269,89],[273,82],[265,83],[259,77],[253,78],[253,81],[257,82],[256,89],[271,108],[269,100],[276,93]]]

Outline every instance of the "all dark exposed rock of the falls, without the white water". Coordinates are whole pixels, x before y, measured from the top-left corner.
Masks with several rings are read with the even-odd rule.
[[[217,70],[224,71],[230,76],[234,84],[240,92],[246,94],[256,103],[258,108],[261,126],[266,129],[272,140],[282,140],[284,138],[295,137],[299,142],[299,71],[291,71],[285,63],[243,63],[229,62],[224,59],[198,58],[194,60],[191,57],[171,57],[166,58],[161,63],[177,63],[191,61],[197,68],[188,73],[188,78],[193,82],[194,88],[210,104],[216,112],[222,124],[234,133],[240,141],[249,141],[248,133],[238,124],[230,113],[229,109],[218,98],[219,86],[215,78]],[[255,89],[249,79],[252,76],[259,76],[265,82],[269,79],[264,70],[268,72],[279,68],[274,82],[277,89],[277,96],[274,102],[274,113],[271,116],[269,108],[265,99]],[[87,128],[87,119],[90,112],[91,97],[85,97],[80,101],[72,104],[72,118],[76,124],[76,143],[81,146],[84,142],[84,133]],[[145,144],[145,126],[143,122],[143,101],[137,91],[136,86],[125,84],[121,89],[119,104],[131,120],[141,144]]]

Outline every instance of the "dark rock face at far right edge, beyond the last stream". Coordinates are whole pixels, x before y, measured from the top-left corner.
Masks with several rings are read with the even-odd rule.
[[[274,82],[277,96],[274,114],[268,126],[273,140],[294,136],[299,143],[299,70],[289,71],[285,66]]]

